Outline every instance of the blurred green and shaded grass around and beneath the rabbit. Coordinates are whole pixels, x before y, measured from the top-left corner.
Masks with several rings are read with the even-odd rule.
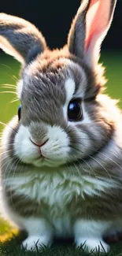
[[[112,98],[119,98],[119,106],[122,108],[122,52],[104,52],[102,54],[102,62],[106,67],[106,77],[109,79],[107,83],[106,93]],[[17,99],[14,94],[15,88],[7,88],[8,84],[17,84],[19,76],[20,64],[13,58],[0,55],[0,121],[7,122],[14,114],[17,113],[19,102],[13,102]],[[4,85],[4,88],[3,87]],[[6,93],[3,93],[6,91]],[[11,92],[7,92],[11,91]],[[12,103],[11,103],[12,102]],[[3,126],[0,124],[0,132]],[[44,248],[39,252],[27,252],[20,250],[20,240],[22,236],[17,236],[17,231],[11,229],[9,225],[0,219],[0,256],[87,256],[90,255],[82,249],[75,250],[71,244],[55,243],[54,247]],[[96,253],[94,255],[99,255]],[[109,256],[122,255],[122,244],[113,245]]]

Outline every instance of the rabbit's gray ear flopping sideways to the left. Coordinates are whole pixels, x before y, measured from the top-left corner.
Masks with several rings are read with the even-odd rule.
[[[33,24],[0,13],[0,47],[21,63],[28,64],[46,49],[46,42]]]

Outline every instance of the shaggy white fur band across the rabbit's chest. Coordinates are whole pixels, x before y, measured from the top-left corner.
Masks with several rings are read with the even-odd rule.
[[[43,200],[49,206],[58,206],[61,210],[72,201],[74,195],[84,198],[85,194],[100,195],[106,187],[114,187],[111,180],[98,180],[91,176],[72,174],[67,170],[57,173],[30,172],[24,176],[7,179],[6,184],[13,187],[17,195],[25,195],[37,202]]]

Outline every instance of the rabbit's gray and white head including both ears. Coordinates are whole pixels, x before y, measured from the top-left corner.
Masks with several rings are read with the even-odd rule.
[[[115,6],[116,0],[83,0],[68,44],[53,51],[34,25],[0,14],[2,49],[22,63],[21,106],[2,141],[8,157],[58,166],[87,159],[108,143],[114,120],[111,101],[100,95],[105,80],[98,59]]]

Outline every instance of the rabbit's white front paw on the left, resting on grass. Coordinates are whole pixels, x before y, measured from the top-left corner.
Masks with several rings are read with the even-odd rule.
[[[46,236],[29,236],[22,243],[22,247],[26,250],[36,250],[36,248],[41,248],[43,246],[50,246],[51,241],[49,241]]]

